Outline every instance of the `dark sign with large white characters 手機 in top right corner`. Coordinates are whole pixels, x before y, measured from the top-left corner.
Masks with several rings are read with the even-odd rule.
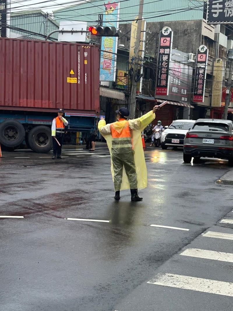
[[[208,0],[207,23],[233,23],[233,0]]]

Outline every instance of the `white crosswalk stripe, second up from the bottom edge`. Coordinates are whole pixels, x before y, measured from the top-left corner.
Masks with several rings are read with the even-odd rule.
[[[182,253],[180,253],[180,255],[196,257],[196,258],[212,259],[212,260],[218,260],[218,261],[233,262],[233,254],[209,251],[207,249],[187,248]]]

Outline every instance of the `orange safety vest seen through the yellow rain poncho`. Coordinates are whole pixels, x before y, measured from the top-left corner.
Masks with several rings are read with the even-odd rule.
[[[125,119],[120,119],[118,122],[125,121]],[[120,132],[114,127],[114,123],[110,125],[112,134],[112,148],[130,148],[132,149],[132,138],[129,122]]]

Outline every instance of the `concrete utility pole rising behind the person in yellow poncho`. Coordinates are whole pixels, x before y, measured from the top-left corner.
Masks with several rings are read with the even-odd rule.
[[[135,109],[136,109],[136,91],[137,83],[135,81],[135,73],[138,71],[138,62],[139,62],[139,49],[140,49],[140,40],[141,40],[141,30],[142,30],[142,15],[143,15],[143,4],[144,0],[139,2],[139,12],[138,12],[138,27],[136,33],[136,42],[135,42],[135,60],[133,64],[133,74],[132,74],[132,86],[130,93],[130,118],[135,118]]]

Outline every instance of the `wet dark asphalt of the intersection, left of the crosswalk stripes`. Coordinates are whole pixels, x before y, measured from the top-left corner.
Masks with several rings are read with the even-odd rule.
[[[127,191],[114,202],[101,145],[92,155],[64,147],[66,158],[55,161],[31,151],[3,156],[0,216],[24,216],[0,219],[4,311],[119,310],[128,296],[126,304],[134,293],[139,299],[135,290],[157,268],[232,210],[232,188],[214,183],[229,170],[224,160],[185,165],[180,150],[148,148],[148,188],[139,193],[143,202],[131,203]],[[150,295],[145,290],[142,299]],[[127,310],[147,310],[137,305]]]

